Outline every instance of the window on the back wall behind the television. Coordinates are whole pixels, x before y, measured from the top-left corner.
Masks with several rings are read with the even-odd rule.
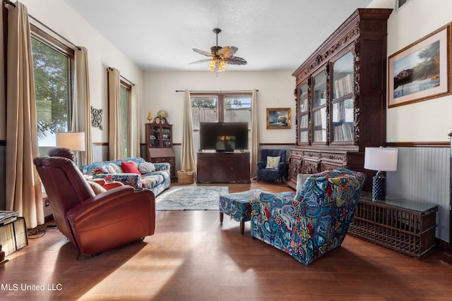
[[[251,147],[251,93],[191,94],[195,149],[199,149],[201,122],[247,122]]]

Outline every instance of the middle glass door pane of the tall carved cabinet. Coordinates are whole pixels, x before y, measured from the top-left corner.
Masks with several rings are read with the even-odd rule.
[[[314,142],[326,142],[326,73],[316,75],[312,85],[312,137]]]

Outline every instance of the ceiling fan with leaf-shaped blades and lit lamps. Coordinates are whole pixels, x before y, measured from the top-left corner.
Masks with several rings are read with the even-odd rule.
[[[210,52],[203,51],[194,48],[193,51],[203,56],[210,56],[210,59],[203,59],[199,61],[194,61],[193,63],[204,63],[210,62],[210,71],[221,72],[225,70],[226,64],[228,65],[246,65],[246,60],[240,58],[239,56],[234,56],[234,54],[239,50],[234,46],[220,47],[218,46],[218,34],[221,32],[220,28],[214,28],[213,33],[217,35],[217,45],[210,47]],[[190,63],[192,64],[192,63]]]

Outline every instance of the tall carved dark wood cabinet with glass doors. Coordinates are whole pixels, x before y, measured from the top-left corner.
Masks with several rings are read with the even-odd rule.
[[[365,147],[386,145],[386,8],[359,8],[292,74],[296,147],[287,184],[298,173],[364,169]]]

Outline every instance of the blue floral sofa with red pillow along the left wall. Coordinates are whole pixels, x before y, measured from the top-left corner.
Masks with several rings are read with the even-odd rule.
[[[155,196],[171,185],[171,165],[169,163],[154,163],[155,171],[149,173],[140,173],[139,171],[138,173],[124,173],[121,164],[123,161],[132,161],[138,170],[140,165],[145,163],[145,160],[141,157],[101,161],[81,166],[81,172],[84,175],[93,176],[93,178],[104,178],[105,180],[114,180],[131,185],[134,188],[149,189],[154,192]]]

